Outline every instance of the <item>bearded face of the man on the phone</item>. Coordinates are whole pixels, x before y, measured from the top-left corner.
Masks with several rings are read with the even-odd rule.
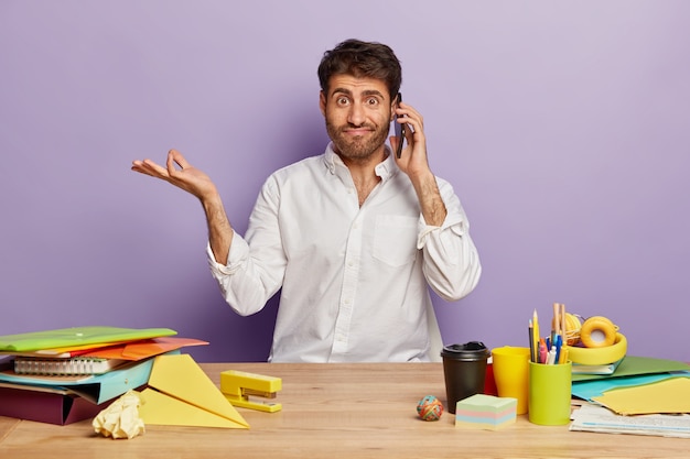
[[[382,155],[391,121],[391,100],[384,81],[333,76],[328,94],[321,94],[320,106],[335,152],[344,160],[363,162]]]

